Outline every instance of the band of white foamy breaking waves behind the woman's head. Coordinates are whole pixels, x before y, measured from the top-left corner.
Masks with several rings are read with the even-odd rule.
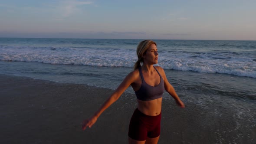
[[[62,65],[133,67],[132,49],[2,46],[0,61],[40,62]],[[164,69],[222,73],[256,78],[255,54],[239,52],[187,52],[159,50],[158,65]]]

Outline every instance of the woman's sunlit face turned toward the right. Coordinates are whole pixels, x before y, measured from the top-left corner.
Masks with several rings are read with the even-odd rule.
[[[144,63],[147,64],[157,64],[158,63],[158,49],[157,46],[154,44],[151,44],[149,48],[147,49],[146,53],[143,56]]]

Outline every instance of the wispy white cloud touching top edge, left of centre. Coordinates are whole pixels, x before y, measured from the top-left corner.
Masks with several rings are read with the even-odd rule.
[[[92,4],[90,1],[66,0],[61,1],[57,9],[62,13],[62,17],[69,17],[73,13],[79,11],[79,6]]]

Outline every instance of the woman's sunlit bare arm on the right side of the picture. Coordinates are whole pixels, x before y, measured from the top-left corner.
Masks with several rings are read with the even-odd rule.
[[[174,87],[170,84],[170,82],[168,82],[167,77],[165,75],[164,69],[161,67],[158,67],[158,71],[160,72],[162,78],[164,79],[164,89],[166,90],[166,92],[168,92],[176,101],[176,103],[181,106],[181,108],[185,108],[184,103],[181,101],[181,99],[179,98],[179,96],[177,95],[177,93],[174,90]]]

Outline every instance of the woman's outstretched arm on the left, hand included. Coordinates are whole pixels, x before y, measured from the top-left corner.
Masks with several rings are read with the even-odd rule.
[[[104,102],[104,104],[95,112],[95,114],[83,121],[82,129],[85,130],[87,127],[91,128],[92,125],[97,121],[98,117],[105,111],[110,105],[112,105],[118,98],[122,95],[123,92],[131,85],[131,83],[135,82],[136,76],[135,71],[129,73],[123,82],[118,86],[115,92]]]

